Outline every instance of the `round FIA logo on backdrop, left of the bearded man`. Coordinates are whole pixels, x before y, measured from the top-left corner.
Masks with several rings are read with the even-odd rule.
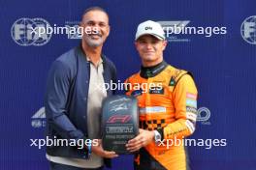
[[[15,21],[11,28],[13,40],[22,46],[35,45],[40,46],[49,42],[51,34],[42,34],[39,36],[37,30],[40,27],[50,26],[48,21],[43,18],[21,17]]]

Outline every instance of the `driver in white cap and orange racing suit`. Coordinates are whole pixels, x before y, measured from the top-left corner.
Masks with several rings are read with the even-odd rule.
[[[137,170],[187,170],[183,138],[195,130],[197,88],[190,72],[163,60],[167,45],[161,25],[147,20],[138,26],[136,48],[142,69],[126,81],[126,95],[138,99],[140,133],[128,141],[137,152]]]

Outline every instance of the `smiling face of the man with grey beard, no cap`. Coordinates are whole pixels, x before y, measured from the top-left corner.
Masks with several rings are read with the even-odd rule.
[[[83,30],[82,41],[88,46],[102,46],[110,34],[109,17],[101,11],[90,11],[83,15],[81,21]]]

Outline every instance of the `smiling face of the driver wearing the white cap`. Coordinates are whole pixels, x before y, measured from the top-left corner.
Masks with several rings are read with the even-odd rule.
[[[151,35],[144,35],[135,42],[144,67],[151,67],[161,63],[166,45],[166,41],[161,41]]]

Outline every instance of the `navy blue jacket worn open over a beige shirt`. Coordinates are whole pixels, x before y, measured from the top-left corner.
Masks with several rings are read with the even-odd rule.
[[[105,83],[116,82],[113,63],[102,55]],[[48,73],[45,107],[47,136],[51,139],[86,139],[87,97],[90,64],[81,47],[75,47],[57,58]],[[108,96],[113,91],[107,91]],[[55,137],[54,137],[55,136]],[[86,158],[85,149],[48,146],[50,156]]]

